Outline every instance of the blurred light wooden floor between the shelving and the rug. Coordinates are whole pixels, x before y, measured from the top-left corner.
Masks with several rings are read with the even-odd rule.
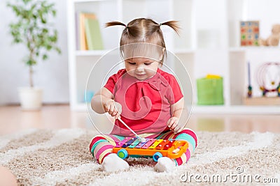
[[[18,106],[0,107],[0,135],[28,128],[60,129],[82,127],[94,129],[87,112],[71,111],[69,105],[46,105],[41,111],[22,111]],[[188,127],[195,131],[280,132],[278,115],[204,115],[190,116]]]

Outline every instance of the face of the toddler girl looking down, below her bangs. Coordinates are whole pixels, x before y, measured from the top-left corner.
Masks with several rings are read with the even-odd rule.
[[[158,70],[160,63],[147,58],[132,58],[125,60],[125,69],[127,73],[139,80],[153,77]]]

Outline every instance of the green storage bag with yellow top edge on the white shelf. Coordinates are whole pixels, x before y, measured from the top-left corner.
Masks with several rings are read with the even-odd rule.
[[[223,104],[223,77],[197,79],[197,104]]]

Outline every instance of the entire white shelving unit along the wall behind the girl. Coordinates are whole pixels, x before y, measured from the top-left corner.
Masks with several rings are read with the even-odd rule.
[[[251,73],[259,63],[280,61],[279,47],[240,47],[239,21],[260,20],[260,37],[269,36],[272,24],[280,12],[277,0],[69,0],[69,82],[71,109],[85,111],[83,101],[85,84],[94,63],[118,47],[122,26],[104,29],[104,24],[113,20],[127,23],[137,17],[151,17],[156,22],[178,20],[180,36],[167,26],[162,26],[167,49],[181,59],[193,82],[207,74],[223,76],[224,99],[222,106],[193,107],[195,113],[221,114],[280,114],[279,107],[246,107],[242,98],[246,95],[246,63],[251,62]],[[267,3],[268,2],[268,3]],[[253,5],[253,6],[252,6]],[[209,8],[211,7],[211,8]],[[273,10],[275,9],[275,10]],[[104,50],[76,50],[75,13],[92,12],[97,15],[102,29]],[[171,64],[179,74],[176,64]],[[109,68],[104,66],[104,70]],[[101,75],[101,74],[100,74]],[[97,79],[96,81],[102,81]],[[254,78],[252,76],[252,82]],[[92,86],[93,91],[94,86]],[[253,93],[258,94],[253,84]]]

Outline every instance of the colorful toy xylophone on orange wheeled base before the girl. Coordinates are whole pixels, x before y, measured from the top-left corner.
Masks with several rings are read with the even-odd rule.
[[[172,159],[181,157],[188,148],[188,142],[179,140],[164,139],[146,139],[145,142],[137,137],[126,137],[113,147],[113,153],[117,153],[118,157],[125,159],[130,156],[149,156],[153,157],[155,162],[158,158],[166,156]]]

